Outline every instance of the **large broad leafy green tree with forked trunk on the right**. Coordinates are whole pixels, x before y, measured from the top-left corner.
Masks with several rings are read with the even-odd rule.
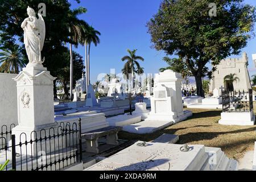
[[[210,16],[212,0],[163,0],[147,23],[154,48],[184,60],[195,77],[198,96],[204,97],[205,65],[211,62],[215,71],[221,59],[239,54],[253,34],[255,8],[242,2],[216,0],[217,16]]]

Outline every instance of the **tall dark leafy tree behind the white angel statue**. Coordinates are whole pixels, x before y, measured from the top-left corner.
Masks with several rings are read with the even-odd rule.
[[[78,3],[79,0],[76,0]],[[32,7],[36,13],[41,0],[2,0],[0,11],[0,49],[10,49],[16,42],[23,43],[23,31],[20,27],[23,19],[27,18],[27,6]],[[46,4],[46,39],[42,56],[46,58],[43,65],[51,72],[51,75],[57,77],[58,69],[64,68],[63,52],[67,51],[65,43],[72,42],[69,38],[68,24],[72,22],[74,16],[71,16],[71,3],[68,0],[44,0]],[[73,43],[73,42],[72,42]],[[23,46],[23,54],[26,51]],[[25,56],[27,59],[27,56]],[[53,81],[54,96],[56,94],[56,80]]]

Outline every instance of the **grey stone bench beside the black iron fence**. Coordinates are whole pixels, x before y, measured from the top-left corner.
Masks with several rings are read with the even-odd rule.
[[[118,132],[122,130],[119,126],[108,126],[102,129],[82,133],[82,138],[86,140],[86,152],[98,154],[98,138],[106,136],[106,143],[118,145]]]

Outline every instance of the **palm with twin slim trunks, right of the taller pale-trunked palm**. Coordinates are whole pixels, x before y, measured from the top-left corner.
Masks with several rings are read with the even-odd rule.
[[[86,36],[84,39],[85,46],[85,67],[86,67],[86,90],[87,86],[90,84],[90,44],[93,43],[94,46],[100,43],[100,38],[98,35],[101,33],[95,30],[92,26],[86,28]],[[88,48],[87,48],[88,46]],[[88,51],[87,51],[88,49]]]

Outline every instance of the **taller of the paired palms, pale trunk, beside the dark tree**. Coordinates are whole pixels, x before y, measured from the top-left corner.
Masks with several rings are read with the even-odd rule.
[[[88,27],[88,24],[84,20],[77,19],[78,15],[86,13],[86,9],[84,7],[79,7],[77,9],[71,10],[70,12],[70,21],[68,24],[70,41],[69,42],[69,53],[70,53],[70,98],[72,100],[73,97],[73,55],[72,55],[72,44],[77,47],[78,43],[82,44],[82,41],[85,39],[85,29]]]

